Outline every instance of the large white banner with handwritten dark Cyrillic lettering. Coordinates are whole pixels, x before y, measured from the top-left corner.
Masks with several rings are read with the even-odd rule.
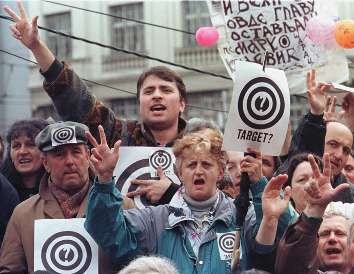
[[[211,22],[218,28],[218,48],[224,65],[237,83],[237,60],[284,70],[290,94],[306,92],[306,73],[316,68],[316,78],[326,82],[348,80],[344,49],[334,38],[314,44],[306,35],[306,23],[318,14],[338,16],[331,1],[207,1]]]

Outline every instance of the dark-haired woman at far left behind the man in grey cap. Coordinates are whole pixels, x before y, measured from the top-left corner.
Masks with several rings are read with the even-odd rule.
[[[8,131],[7,155],[0,165],[2,173],[14,186],[22,202],[39,191],[45,169],[34,139],[49,123],[42,118],[16,121]]]

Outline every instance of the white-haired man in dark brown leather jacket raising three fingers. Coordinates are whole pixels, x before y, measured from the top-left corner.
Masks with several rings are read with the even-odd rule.
[[[313,156],[308,157],[314,179],[304,185],[307,206],[298,220],[288,226],[280,240],[275,265],[277,274],[349,272],[346,244],[348,220],[339,215],[323,218],[326,206],[349,185],[340,184],[333,189],[329,154],[325,153],[323,158],[321,174]]]

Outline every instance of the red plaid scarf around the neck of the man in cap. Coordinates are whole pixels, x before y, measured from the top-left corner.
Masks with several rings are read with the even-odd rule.
[[[55,184],[53,184],[50,181],[50,177],[48,181],[49,181],[49,189],[52,192],[52,195],[58,201],[65,218],[66,219],[75,218],[78,213],[78,210],[80,209],[81,203],[87,194],[90,185],[90,179],[87,180],[86,184],[84,185],[84,188],[81,189],[80,192],[74,194],[73,196],[70,196],[68,193],[66,193],[62,189],[58,188]]]

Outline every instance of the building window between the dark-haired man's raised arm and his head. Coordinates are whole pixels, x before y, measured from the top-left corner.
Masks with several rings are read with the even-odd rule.
[[[119,118],[141,120],[136,98],[112,100],[112,110]]]

